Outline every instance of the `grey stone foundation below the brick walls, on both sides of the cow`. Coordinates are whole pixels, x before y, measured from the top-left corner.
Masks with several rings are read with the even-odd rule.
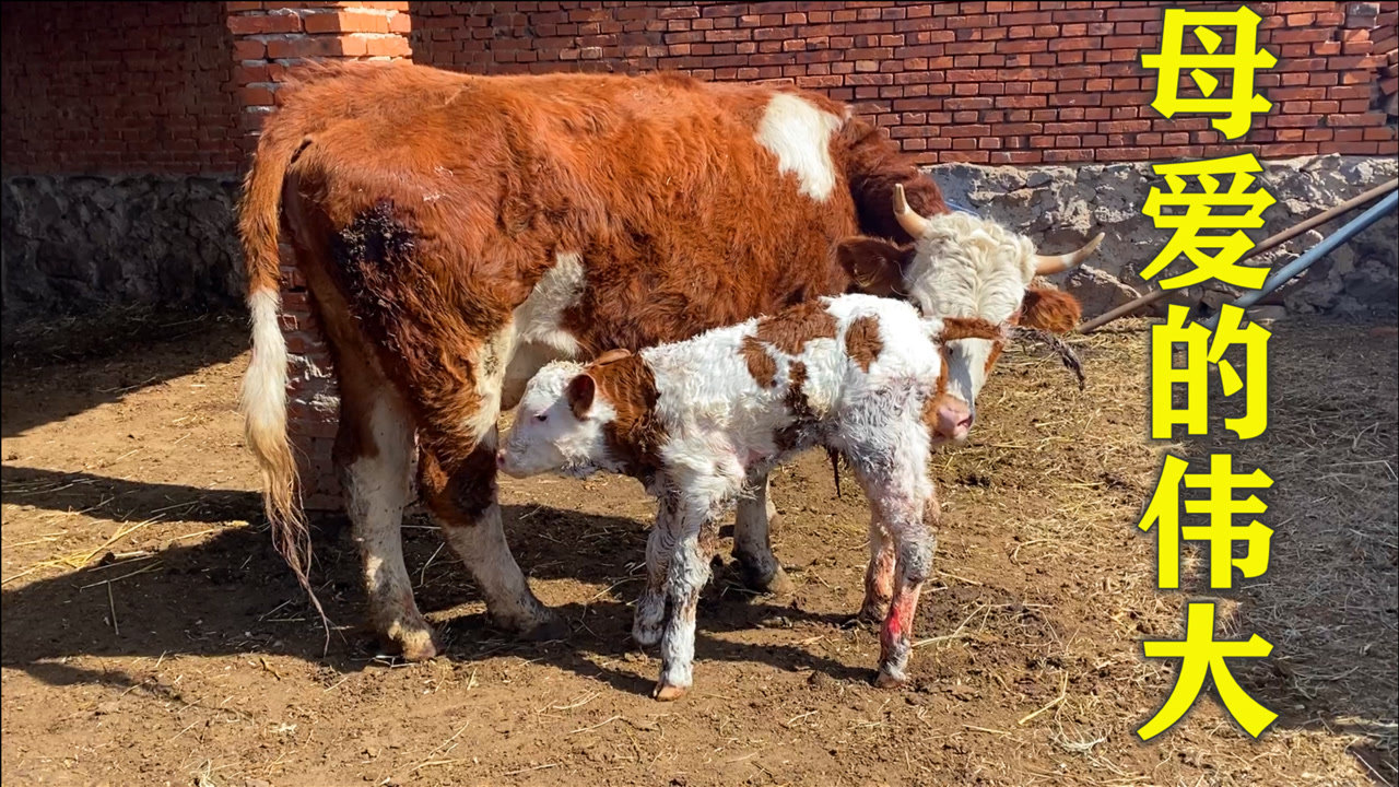
[[[1399,174],[1391,158],[1319,155],[1263,164],[1277,197],[1255,241]],[[1028,234],[1048,252],[1107,232],[1090,270],[1055,277],[1095,315],[1146,291],[1136,274],[1170,238],[1142,216],[1160,178],[1149,164],[930,169],[954,203]],[[0,186],[6,319],[111,305],[231,307],[242,301],[234,176],[17,176]],[[1265,255],[1277,265],[1316,244],[1330,224]],[[1391,315],[1399,311],[1399,220],[1381,218],[1318,262],[1276,298],[1291,312]],[[1223,288],[1182,293],[1219,301]]]

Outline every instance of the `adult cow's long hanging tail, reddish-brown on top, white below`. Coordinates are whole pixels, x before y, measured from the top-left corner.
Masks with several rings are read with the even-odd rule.
[[[270,127],[259,141],[238,206],[253,335],[253,357],[243,377],[239,405],[248,447],[262,471],[263,507],[274,543],[320,613],[329,646],[329,622],[308,576],[311,529],[301,508],[297,459],[287,438],[287,340],[277,319],[281,307],[277,244],[283,179],[301,137],[278,133],[281,130]]]

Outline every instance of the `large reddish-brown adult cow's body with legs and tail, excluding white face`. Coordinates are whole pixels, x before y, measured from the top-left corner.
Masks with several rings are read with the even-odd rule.
[[[925,214],[946,211],[876,129],[788,87],[385,63],[299,77],[263,129],[239,209],[248,443],[278,548],[309,591],[277,326],[285,230],[334,358],[334,458],[371,625],[410,660],[436,653],[400,543],[414,452],[417,492],[492,618],[555,636],[495,500],[495,420],[525,381],[555,358],[673,342],[848,290],[838,239],[912,239],[888,210],[897,183]],[[736,522],[734,555],[757,588],[785,581],[765,483]]]

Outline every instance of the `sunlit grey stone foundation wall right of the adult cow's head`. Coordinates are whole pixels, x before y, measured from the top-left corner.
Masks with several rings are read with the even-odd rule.
[[[1142,216],[1151,186],[1164,188],[1150,164],[1093,164],[1084,167],[979,167],[944,164],[930,169],[949,200],[995,218],[1034,238],[1041,251],[1059,252],[1084,238],[1105,232],[1088,270],[1052,277],[1084,301],[1087,316],[1126,302],[1149,287],[1137,272],[1165,246],[1171,230],[1157,230]],[[1249,231],[1254,241],[1280,232],[1399,174],[1393,158],[1318,155],[1284,161],[1263,161],[1259,179],[1277,203],[1263,211],[1262,230]],[[1358,216],[1360,211],[1346,218]],[[1270,267],[1290,262],[1332,234],[1344,218],[1298,235],[1265,253],[1251,265]],[[1280,301],[1288,312],[1330,312],[1340,315],[1389,316],[1399,311],[1399,220],[1393,211],[1349,244],[1316,262],[1304,274],[1279,290],[1269,301]],[[1168,272],[1182,270],[1177,262]],[[1105,276],[1104,276],[1105,274]],[[1164,277],[1163,274],[1161,277]],[[1158,277],[1160,279],[1160,277]],[[1224,287],[1192,288],[1174,302],[1233,300]],[[1170,300],[1167,302],[1171,302]],[[1160,304],[1158,312],[1165,308]],[[1270,309],[1270,314],[1279,314]]]

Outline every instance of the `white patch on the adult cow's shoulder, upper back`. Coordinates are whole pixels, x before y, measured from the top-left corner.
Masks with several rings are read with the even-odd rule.
[[[824,200],[835,189],[831,134],[841,118],[817,109],[810,101],[779,92],[758,122],[758,144],[778,157],[778,171],[796,175],[802,193]]]

